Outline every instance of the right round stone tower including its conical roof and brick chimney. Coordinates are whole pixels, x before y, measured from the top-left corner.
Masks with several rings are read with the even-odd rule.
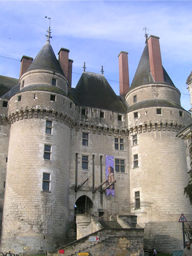
[[[159,38],[150,36],[126,95],[131,214],[145,228],[146,247],[167,252],[183,248],[181,214],[192,220],[185,144],[176,137],[191,117],[180,95],[162,66]]]

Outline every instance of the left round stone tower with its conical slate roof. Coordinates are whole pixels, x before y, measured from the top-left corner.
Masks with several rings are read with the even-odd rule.
[[[10,94],[11,123],[1,251],[49,250],[68,230],[69,147],[74,103],[46,41]]]

